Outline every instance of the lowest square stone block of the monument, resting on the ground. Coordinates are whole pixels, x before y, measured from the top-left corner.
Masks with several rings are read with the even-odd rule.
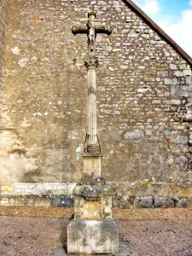
[[[115,219],[74,219],[67,226],[67,254],[119,253]]]

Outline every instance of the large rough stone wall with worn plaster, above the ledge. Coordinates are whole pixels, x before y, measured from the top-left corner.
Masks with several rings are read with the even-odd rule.
[[[191,183],[189,63],[119,1],[9,1],[1,183],[76,182],[86,133],[85,35],[98,34],[98,135],[108,181]]]

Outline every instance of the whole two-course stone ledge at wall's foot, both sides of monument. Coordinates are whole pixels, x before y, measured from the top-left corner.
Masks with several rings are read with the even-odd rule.
[[[73,207],[76,183],[12,183],[0,187],[0,205]],[[113,207],[192,207],[192,185],[172,183],[107,183]]]

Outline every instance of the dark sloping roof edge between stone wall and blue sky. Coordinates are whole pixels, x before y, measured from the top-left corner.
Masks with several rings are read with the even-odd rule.
[[[172,39],[170,36],[164,32],[160,26],[158,26],[154,20],[148,17],[142,9],[140,9],[137,4],[133,3],[131,0],[122,0],[127,6],[129,6],[133,11],[137,13],[149,26],[152,26],[155,32],[158,32],[162,38],[166,40],[168,44],[172,46],[173,49],[179,53],[185,61],[187,61],[192,67],[192,58]]]

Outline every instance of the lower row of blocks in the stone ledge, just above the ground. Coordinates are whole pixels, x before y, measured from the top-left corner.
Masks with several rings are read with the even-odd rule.
[[[0,206],[73,207],[73,195],[1,195]],[[113,195],[113,207],[191,208],[192,197],[163,197],[143,195]]]

